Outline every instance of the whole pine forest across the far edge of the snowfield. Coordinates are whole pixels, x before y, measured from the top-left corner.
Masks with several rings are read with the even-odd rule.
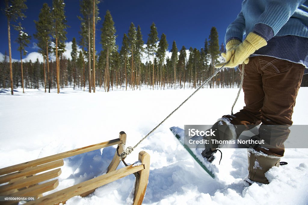
[[[0,62],[1,88],[45,88],[73,87],[88,92],[95,88],[106,92],[113,89],[140,90],[149,89],[196,89],[214,72],[214,65],[220,62],[220,53],[225,52],[219,45],[215,27],[209,31],[202,48],[185,48],[172,41],[172,55],[168,56],[168,45],[164,33],[158,34],[153,22],[141,30],[132,22],[123,35],[122,45],[116,44],[116,22],[109,10],[103,16],[99,14],[99,0],[80,1],[80,31],[73,39],[67,39],[69,22],[65,16],[63,0],[53,0],[52,7],[42,5],[37,20],[34,21],[36,33],[31,37],[22,27],[26,1],[6,0],[4,10],[8,22],[9,53],[5,53]],[[11,4],[14,5],[14,9]],[[17,23],[18,22],[18,23]],[[18,39],[10,39],[10,29],[18,30]],[[101,30],[101,35],[95,31]],[[148,31],[144,34],[144,30]],[[205,35],[205,36],[208,36]],[[146,37],[145,37],[146,36]],[[23,62],[25,48],[30,39],[37,40],[43,63]],[[146,42],[143,40],[146,39]],[[20,61],[11,60],[11,42],[18,43]],[[71,57],[65,56],[65,42],[72,41]],[[96,51],[101,46],[101,51]],[[80,49],[77,49],[80,48]],[[50,59],[53,54],[55,60]],[[234,88],[240,83],[237,69],[223,69],[204,88]]]

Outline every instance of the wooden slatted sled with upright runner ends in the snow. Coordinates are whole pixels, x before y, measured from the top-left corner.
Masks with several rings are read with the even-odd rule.
[[[25,203],[26,205],[65,203],[67,199],[70,199],[73,196],[87,196],[95,191],[97,187],[113,182],[124,176],[137,173],[135,174],[136,186],[133,204],[142,204],[148,184],[150,156],[148,153],[141,151],[139,153],[139,160],[141,161],[141,165],[129,165],[116,170],[120,164],[120,157],[118,156],[118,153],[123,151],[123,145],[125,145],[125,143],[126,134],[125,132],[120,132],[118,139],[102,142],[99,144],[93,144],[87,147],[74,149],[52,156],[43,157],[37,160],[2,168],[0,169],[0,196],[35,197],[34,201],[29,201]],[[115,153],[111,163],[107,168],[106,174],[43,196],[43,193],[51,191],[59,185],[58,179],[50,179],[56,178],[61,174],[61,168],[59,167],[63,166],[64,164],[63,158],[90,152],[115,144],[118,145],[118,153]],[[48,182],[45,182],[46,180],[48,180]],[[1,204],[17,203],[18,201],[1,202]]]

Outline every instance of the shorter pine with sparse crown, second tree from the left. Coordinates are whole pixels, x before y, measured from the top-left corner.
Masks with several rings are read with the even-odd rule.
[[[20,22],[19,22],[19,26],[15,26],[15,30],[19,32],[18,38],[16,39],[15,42],[19,44],[17,50],[20,52],[21,84],[22,84],[22,92],[24,93],[25,91],[24,91],[24,85],[23,85],[22,55],[26,55],[27,53],[27,51],[25,50],[25,47],[28,47],[27,44],[30,43],[31,36],[29,36],[27,33],[23,31],[24,28],[22,28]]]

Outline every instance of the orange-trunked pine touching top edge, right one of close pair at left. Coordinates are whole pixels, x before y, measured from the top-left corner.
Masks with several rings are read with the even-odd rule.
[[[65,16],[65,3],[63,0],[53,0],[52,2],[52,20],[53,20],[53,37],[55,39],[55,56],[56,56],[56,69],[57,69],[57,88],[60,93],[60,58],[61,53],[65,51],[64,41],[66,40],[66,16]]]

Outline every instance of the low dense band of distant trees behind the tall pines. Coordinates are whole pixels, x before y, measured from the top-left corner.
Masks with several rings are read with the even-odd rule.
[[[103,53],[103,52],[102,52]],[[104,55],[100,54],[96,63],[96,75],[95,82],[96,87],[106,88],[105,82],[105,61]],[[197,88],[200,86],[209,76],[212,75],[211,65],[204,63],[204,59],[201,58],[200,51],[194,49],[191,51],[190,57],[187,63],[179,61],[176,64],[176,75],[174,75],[174,66],[170,59],[167,59],[164,68],[161,69],[157,60],[154,59],[154,84],[152,74],[152,63],[140,63],[132,71],[131,67],[125,66],[120,63],[120,59],[113,58],[115,55],[111,55],[110,67],[110,90],[112,89],[140,89],[141,87],[151,87],[154,89],[188,89]],[[130,62],[131,58],[128,59]],[[79,89],[88,89],[88,63],[83,61],[82,58],[77,59],[75,64],[65,56],[60,57],[60,79],[59,84],[61,88],[74,87]],[[13,86],[14,88],[21,87],[22,78],[20,71],[21,62],[13,62]],[[10,87],[10,72],[9,63],[7,58],[0,62],[0,87]],[[23,78],[25,88],[44,88],[44,64],[40,63],[39,60],[35,62],[24,62],[23,63]],[[56,75],[56,63],[51,61],[50,67],[50,88],[57,88],[57,75]],[[126,71],[126,72],[125,72]],[[75,77],[74,77],[75,76]],[[174,81],[174,77],[176,80]],[[75,80],[74,80],[75,78]],[[222,88],[234,88],[240,84],[239,72],[236,69],[223,69],[220,73],[214,77],[215,87]],[[210,81],[205,88],[212,88],[213,81]],[[127,87],[126,87],[127,86]],[[93,85],[91,86],[93,90]],[[46,84],[48,92],[48,82]]]

